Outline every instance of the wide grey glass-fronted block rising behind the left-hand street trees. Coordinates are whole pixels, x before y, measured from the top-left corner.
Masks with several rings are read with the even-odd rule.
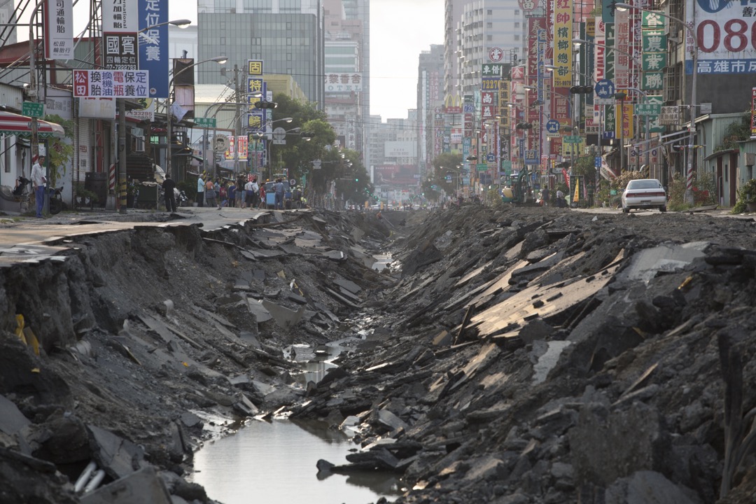
[[[325,107],[323,0],[197,0],[197,25],[198,61],[228,57],[227,68],[246,78],[247,60],[263,60],[264,73],[293,76]],[[198,84],[227,81],[209,65],[197,68]]]

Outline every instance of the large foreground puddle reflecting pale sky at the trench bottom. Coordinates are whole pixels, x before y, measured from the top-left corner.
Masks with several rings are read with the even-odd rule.
[[[393,502],[401,494],[397,475],[318,475],[319,459],[345,464],[355,447],[345,434],[322,422],[253,420],[195,453],[191,481],[223,504],[367,504],[382,496]]]

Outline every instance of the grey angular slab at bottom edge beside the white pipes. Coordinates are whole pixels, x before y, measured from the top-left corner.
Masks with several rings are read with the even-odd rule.
[[[132,472],[81,497],[82,504],[171,504],[171,495],[152,466]]]

